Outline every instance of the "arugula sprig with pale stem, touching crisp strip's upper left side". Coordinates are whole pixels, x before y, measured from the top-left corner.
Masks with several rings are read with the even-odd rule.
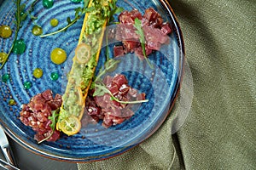
[[[67,31],[67,28],[69,28],[70,26],[73,26],[73,24],[75,24],[81,18],[81,16],[83,14],[88,13],[95,9],[94,7],[88,8],[89,3],[90,3],[90,0],[84,0],[84,8],[79,7],[79,8],[74,9],[75,17],[73,20],[71,20],[70,17],[67,17],[67,26],[64,26],[63,28],[59,29],[58,31],[54,31],[49,34],[44,34],[40,37],[49,37],[49,36],[55,35],[57,33],[60,33],[61,31]]]

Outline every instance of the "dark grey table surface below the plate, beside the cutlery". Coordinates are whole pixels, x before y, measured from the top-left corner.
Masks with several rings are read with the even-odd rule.
[[[15,156],[15,161],[21,170],[77,170],[77,164],[66,161],[55,161],[49,158],[38,156],[26,150],[13,139],[9,138],[9,144]],[[0,158],[4,160],[2,154]],[[0,167],[3,170],[3,167]]]

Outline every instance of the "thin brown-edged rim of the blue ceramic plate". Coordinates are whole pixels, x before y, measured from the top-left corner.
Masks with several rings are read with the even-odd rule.
[[[142,141],[140,141],[137,144],[132,144],[131,146],[123,147],[123,148],[126,148],[126,150],[122,150],[121,152],[118,151],[118,152],[114,153],[113,156],[108,156],[108,157],[103,157],[103,158],[99,158],[99,159],[95,159],[95,160],[86,161],[85,158],[76,158],[76,160],[73,160],[73,158],[68,158],[66,156],[55,156],[54,154],[48,153],[44,150],[38,150],[37,148],[32,147],[31,144],[26,144],[26,141],[21,139],[18,135],[15,135],[15,133],[13,133],[11,131],[11,129],[9,129],[9,127],[6,125],[6,123],[3,122],[2,119],[0,119],[0,125],[3,127],[3,130],[5,131],[5,133],[7,133],[9,135],[9,137],[11,139],[13,139],[17,144],[20,144],[20,146],[22,146],[26,150],[29,150],[29,151],[31,151],[32,153],[34,153],[38,156],[43,156],[43,157],[46,157],[46,158],[49,158],[49,159],[52,159],[52,160],[55,160],[55,161],[67,161],[67,162],[73,162],[73,163],[83,163],[83,162],[108,160],[108,159],[113,158],[115,156],[119,156],[119,155],[124,154],[125,152],[135,148],[137,145],[142,144],[146,139],[148,139],[150,136],[152,136],[160,128],[160,126],[162,126],[163,122],[166,121],[166,118],[171,115],[172,108],[173,108],[173,106],[174,106],[174,104],[177,100],[177,96],[179,94],[181,84],[183,82],[184,63],[185,63],[184,62],[184,60],[185,60],[185,48],[184,48],[183,33],[182,33],[181,27],[180,27],[180,25],[177,21],[177,16],[174,13],[170,3],[167,0],[158,0],[158,1],[163,6],[163,8],[165,10],[167,10],[167,12],[168,12],[167,15],[170,16],[170,19],[172,20],[172,24],[174,25],[172,27],[175,28],[175,30],[173,30],[173,31],[175,31],[175,36],[177,38],[177,42],[178,42],[178,45],[179,45],[179,54],[180,54],[179,59],[181,60],[181,62],[179,62],[180,70],[178,72],[178,77],[177,77],[178,81],[177,81],[177,84],[175,86],[175,91],[174,91],[174,94],[173,94],[174,97],[170,101],[171,105],[170,105],[166,115],[164,116],[164,118],[160,121],[160,123],[157,126],[155,126],[153,131],[151,131]]]

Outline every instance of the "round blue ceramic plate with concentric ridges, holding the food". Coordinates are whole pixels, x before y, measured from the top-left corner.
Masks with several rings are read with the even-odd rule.
[[[26,0],[26,8],[33,1]],[[0,121],[9,136],[26,149],[32,152],[61,161],[99,161],[109,157],[118,156],[135,145],[141,143],[153,134],[166,116],[170,113],[177,97],[181,78],[183,75],[183,37],[177,24],[172,8],[165,0],[126,1],[119,0],[117,5],[126,10],[137,8],[142,14],[144,10],[153,7],[165,21],[172,26],[170,43],[161,48],[160,52],[150,54],[149,61],[154,65],[151,69],[145,59],[138,59],[134,54],[120,57],[118,68],[111,74],[122,73],[128,78],[130,85],[146,94],[147,103],[136,106],[136,113],[131,119],[108,129],[102,127],[101,122],[83,126],[79,133],[67,137],[61,134],[61,139],[56,142],[37,144],[33,139],[34,132],[31,127],[26,127],[20,122],[20,105],[29,102],[35,94],[51,89],[55,94],[63,93],[66,86],[67,65],[73,58],[73,49],[76,47],[83,20],[79,20],[67,31],[52,37],[40,38],[32,35],[32,26],[38,24],[43,27],[44,33],[56,31],[58,27],[66,26],[67,17],[74,16],[74,8],[82,7],[83,3],[72,3],[70,0],[55,0],[52,8],[44,8],[42,1],[34,7],[33,15],[37,20],[26,20],[18,35],[18,39],[26,42],[24,54],[11,54],[6,65],[0,71],[0,76],[9,74],[7,82],[0,81]],[[56,18],[59,26],[52,27],[49,20]],[[3,1],[0,8],[0,25],[8,25],[15,31],[15,4]],[[0,38],[1,51],[8,52],[12,37]],[[114,42],[109,45],[113,47]],[[50,59],[50,52],[54,48],[66,50],[68,59],[64,64],[55,65]],[[113,53],[110,50],[110,56]],[[105,59],[105,48],[102,48],[100,62],[97,70]],[[36,79],[32,76],[35,68],[42,68],[43,77]],[[56,72],[59,79],[52,81],[50,74]],[[25,89],[24,82],[32,82],[32,88]],[[9,100],[15,99],[16,105],[9,105]],[[171,133],[171,132],[170,132]]]

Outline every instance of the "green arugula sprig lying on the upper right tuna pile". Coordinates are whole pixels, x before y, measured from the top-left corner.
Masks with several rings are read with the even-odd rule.
[[[145,36],[144,36],[144,31],[143,31],[143,27],[142,27],[142,21],[139,20],[138,18],[136,18],[134,20],[134,27],[137,29],[137,31],[135,31],[137,33],[137,35],[139,35],[140,37],[140,42],[142,44],[142,48],[143,48],[143,56],[144,59],[146,59],[146,61],[148,62],[148,65],[150,66],[151,69],[154,68],[153,65],[151,65],[151,63],[148,60],[147,54],[146,54],[146,47],[145,47]]]

